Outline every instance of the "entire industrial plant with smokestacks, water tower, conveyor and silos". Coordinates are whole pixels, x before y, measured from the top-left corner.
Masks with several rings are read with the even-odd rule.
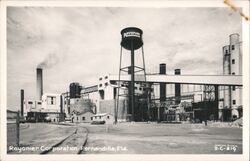
[[[223,55],[223,75],[182,75],[179,68],[168,71],[167,62],[159,64],[159,71],[146,71],[142,36],[139,28],[123,29],[119,73],[99,76],[98,84],[92,86],[72,82],[68,91],[50,93],[43,89],[46,69],[34,69],[37,99],[24,99],[25,91],[21,90],[21,116],[27,122],[108,124],[227,122],[242,117],[239,34],[230,35],[229,44],[218,49]],[[142,64],[135,64],[136,54],[141,55]],[[130,58],[129,66],[122,66],[124,57]],[[169,74],[172,72],[174,75]]]

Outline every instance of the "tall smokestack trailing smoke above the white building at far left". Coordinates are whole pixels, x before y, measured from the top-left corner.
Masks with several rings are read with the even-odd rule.
[[[36,69],[36,92],[37,92],[37,99],[42,100],[42,95],[43,95],[43,69],[41,69],[41,68]]]

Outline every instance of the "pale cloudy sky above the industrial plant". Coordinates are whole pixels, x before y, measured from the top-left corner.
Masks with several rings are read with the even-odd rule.
[[[241,35],[241,17],[225,8],[8,7],[7,108],[36,98],[36,68],[44,93],[68,91],[71,82],[96,85],[99,76],[118,74],[120,31],[143,30],[147,73],[222,74],[222,47]],[[129,64],[125,49],[123,65]],[[126,54],[127,53],[127,54]],[[140,64],[141,50],[136,51]]]

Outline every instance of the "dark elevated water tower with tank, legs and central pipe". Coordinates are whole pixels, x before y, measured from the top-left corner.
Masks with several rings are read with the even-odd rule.
[[[146,85],[146,71],[145,71],[145,59],[143,51],[143,31],[136,27],[127,27],[121,31],[121,51],[120,51],[120,65],[119,65],[119,82],[118,82],[118,92],[117,92],[117,102],[115,108],[115,121],[117,122],[117,113],[119,110],[119,89],[121,87],[121,74],[126,72],[126,74],[131,75],[131,81],[128,82],[128,100],[129,100],[129,114],[131,114],[131,121],[135,121],[135,73],[143,72]],[[122,67],[123,58],[123,48],[130,51],[130,66]],[[141,49],[141,52],[136,52],[136,54],[142,54],[142,67],[135,65],[135,50]],[[147,88],[146,88],[147,89]],[[137,110],[138,111],[138,110]]]

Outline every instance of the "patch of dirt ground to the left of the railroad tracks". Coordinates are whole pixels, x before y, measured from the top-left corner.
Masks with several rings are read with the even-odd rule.
[[[20,124],[20,147],[33,149],[14,150],[9,154],[39,154],[64,139],[75,130],[74,126],[64,126],[49,123]]]

